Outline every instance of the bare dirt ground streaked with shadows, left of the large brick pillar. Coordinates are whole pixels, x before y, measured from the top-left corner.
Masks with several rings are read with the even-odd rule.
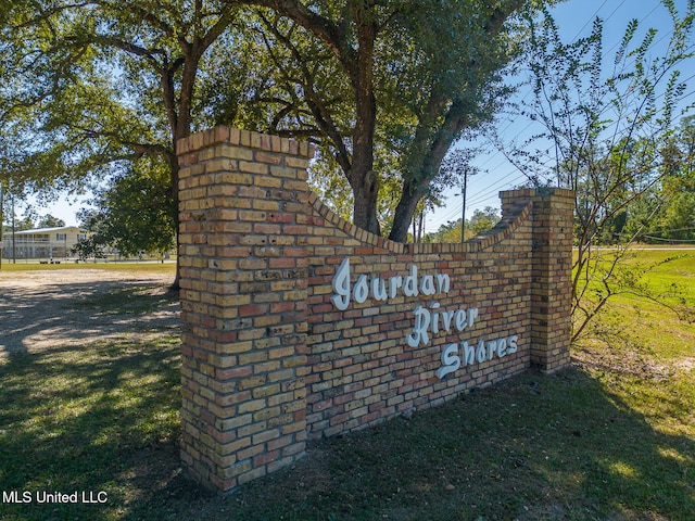
[[[0,358],[9,353],[33,353],[53,345],[79,345],[105,338],[170,334],[179,327],[179,305],[162,300],[152,313],[132,313],[118,305],[124,291],[164,295],[170,275],[101,269],[0,271]],[[103,295],[116,295],[114,305],[100,305]]]

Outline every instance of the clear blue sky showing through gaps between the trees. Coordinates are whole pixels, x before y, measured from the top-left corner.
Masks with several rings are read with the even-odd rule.
[[[686,3],[687,0],[675,0],[675,5],[681,13],[684,12]],[[594,18],[599,16],[604,21],[604,49],[609,56],[611,51],[615,51],[615,46],[622,37],[631,18],[636,18],[640,22],[643,31],[647,27],[658,29],[657,41],[671,31],[670,18],[660,0],[569,0],[555,8],[553,15],[566,42],[581,36],[587,36]],[[664,41],[668,41],[668,36]],[[693,78],[695,59],[691,62],[690,64],[684,64],[681,71],[683,73],[682,78],[691,78],[686,92],[690,93],[690,98],[692,98],[690,102],[693,103],[695,102],[692,87],[695,85],[695,78]],[[518,96],[523,98],[526,93],[528,93],[528,89],[521,89]],[[518,140],[519,136],[532,131],[532,128],[529,127],[529,122],[521,119],[500,120],[497,128],[509,141]],[[497,193],[501,190],[508,190],[519,186],[526,180],[526,177],[509,164],[494,147],[483,142],[483,148],[486,153],[480,154],[476,161],[482,174],[472,176],[468,180],[467,217],[470,217],[476,208],[485,206],[500,207]],[[36,207],[36,209],[41,215],[50,213],[65,220],[67,225],[76,225],[75,214],[85,206],[86,199],[88,198],[78,200],[62,198],[48,207]],[[437,231],[442,224],[456,220],[460,216],[460,189],[455,188],[446,193],[444,207],[438,208],[434,213],[426,216],[426,231]]]

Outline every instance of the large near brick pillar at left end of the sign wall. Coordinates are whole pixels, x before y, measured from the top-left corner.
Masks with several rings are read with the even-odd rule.
[[[306,439],[307,143],[226,127],[177,143],[182,447],[227,492]]]

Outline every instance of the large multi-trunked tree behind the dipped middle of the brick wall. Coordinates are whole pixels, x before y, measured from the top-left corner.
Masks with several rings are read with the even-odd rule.
[[[390,239],[403,242],[452,144],[494,115],[525,4],[501,1],[258,0],[260,39],[278,72],[274,128],[309,134],[348,179],[353,220],[380,233],[380,186],[397,170]],[[266,62],[268,63],[268,62]],[[391,177],[390,177],[391,176]]]

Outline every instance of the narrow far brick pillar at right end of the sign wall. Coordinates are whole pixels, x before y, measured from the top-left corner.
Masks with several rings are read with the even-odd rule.
[[[574,194],[533,192],[531,365],[552,373],[569,364]]]

